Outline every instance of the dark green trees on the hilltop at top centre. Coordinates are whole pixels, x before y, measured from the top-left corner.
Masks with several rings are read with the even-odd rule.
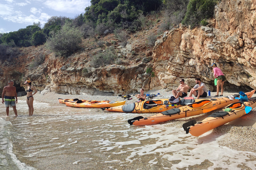
[[[85,8],[84,22],[132,22],[137,19],[139,13],[157,10],[161,3],[161,0],[91,0],[91,6]]]

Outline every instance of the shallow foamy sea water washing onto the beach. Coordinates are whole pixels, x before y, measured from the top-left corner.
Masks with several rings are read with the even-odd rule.
[[[58,102],[58,101],[56,101]],[[225,134],[200,137],[166,124],[130,126],[138,114],[50,107],[25,101],[18,117],[0,105],[0,169],[256,169],[256,153],[220,146]],[[92,110],[96,111],[94,114]]]

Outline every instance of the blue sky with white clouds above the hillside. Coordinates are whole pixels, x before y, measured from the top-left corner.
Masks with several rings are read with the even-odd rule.
[[[91,5],[90,0],[0,0],[0,33],[44,24],[52,16],[75,18]]]

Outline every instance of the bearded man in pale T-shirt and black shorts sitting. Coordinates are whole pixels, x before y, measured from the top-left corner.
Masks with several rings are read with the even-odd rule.
[[[196,85],[190,90],[188,97],[192,94],[199,99],[199,97],[207,97],[207,88],[204,83],[201,82],[200,78],[196,78]]]

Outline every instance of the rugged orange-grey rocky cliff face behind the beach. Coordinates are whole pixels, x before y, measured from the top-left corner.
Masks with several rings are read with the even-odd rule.
[[[193,87],[194,79],[200,77],[212,91],[214,77],[208,66],[217,63],[227,78],[226,89],[239,86],[256,89],[255,8],[256,0],[222,0],[207,26],[191,30],[180,25],[159,36],[151,51],[131,39],[130,44],[120,49],[122,55],[129,57],[131,51],[144,49],[146,59],[131,61],[129,65],[89,67],[88,49],[87,53],[69,58],[55,57],[42,47],[37,47],[33,53],[26,53],[25,49],[26,55],[17,59],[12,66],[14,69],[6,69],[8,63],[1,63],[0,86],[2,89],[8,79],[20,84],[28,78],[43,93],[126,94],[135,93],[141,87],[172,90],[177,88],[181,78]],[[45,62],[36,70],[29,70],[28,64],[40,52],[45,54]],[[150,62],[147,59],[151,59]],[[90,69],[84,72],[85,67]],[[149,67],[153,68],[155,77],[146,73]]]

